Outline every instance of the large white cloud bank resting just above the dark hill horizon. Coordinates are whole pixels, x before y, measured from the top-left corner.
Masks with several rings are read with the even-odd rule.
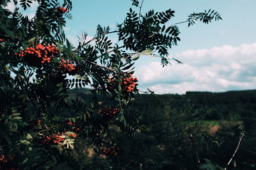
[[[223,92],[256,87],[256,43],[187,50],[175,56],[184,64],[162,68],[159,62],[150,62],[141,66],[136,72],[141,89],[184,94],[191,90]]]

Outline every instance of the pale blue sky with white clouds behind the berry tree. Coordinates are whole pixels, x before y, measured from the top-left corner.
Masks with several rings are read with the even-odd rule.
[[[77,35],[95,36],[98,24],[110,26],[124,21],[131,8],[129,0],[72,1],[73,19],[67,21],[65,33],[76,46]],[[188,27],[180,24],[178,46],[173,46],[171,58],[183,62],[162,67],[159,58],[141,56],[136,62],[134,76],[138,89],[153,90],[156,94],[185,94],[187,91],[225,92],[256,89],[256,1],[255,0],[144,0],[141,13],[148,10],[175,11],[168,24],[187,19],[193,12],[218,11],[223,18],[211,24],[196,23]],[[12,4],[8,8],[13,8]],[[136,7],[132,7],[138,11]],[[27,12],[30,18],[36,4]],[[116,36],[110,36],[118,43]]]

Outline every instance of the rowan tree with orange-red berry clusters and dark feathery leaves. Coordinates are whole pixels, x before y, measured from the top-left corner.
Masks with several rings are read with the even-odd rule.
[[[93,39],[83,33],[74,47],[63,31],[72,17],[70,0],[35,0],[31,19],[22,11],[32,1],[13,0],[20,6],[14,11],[6,9],[10,2],[0,1],[0,167],[79,169],[72,155],[77,137],[87,139],[84,145],[93,145],[99,156],[118,157],[125,149],[118,138],[143,130],[131,108],[140,82],[133,76],[134,62],[140,55],[155,55],[163,66],[176,60],[168,58],[180,41],[177,24],[169,23],[175,11],[142,15],[133,9],[142,3],[132,1],[115,31],[99,25]],[[186,22],[220,19],[209,10],[189,15]],[[121,45],[108,34],[116,34]],[[69,89],[85,86],[95,94],[92,101],[68,100]]]

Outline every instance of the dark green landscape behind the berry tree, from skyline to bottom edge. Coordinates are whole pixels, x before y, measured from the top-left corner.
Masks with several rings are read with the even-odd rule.
[[[93,97],[88,89],[72,89],[70,94],[83,101]],[[246,131],[228,169],[255,169],[255,101],[256,90],[140,94],[133,110],[145,129],[120,139],[129,149],[120,152],[118,159],[131,169],[221,169],[236,150],[239,135]],[[90,153],[87,146],[78,155]],[[97,155],[90,157],[92,163],[106,163]]]

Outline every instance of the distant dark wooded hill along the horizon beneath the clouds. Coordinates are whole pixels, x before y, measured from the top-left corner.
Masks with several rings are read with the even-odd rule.
[[[84,102],[94,94],[89,89],[72,89],[70,98]],[[134,108],[141,115],[168,111],[186,114],[193,120],[244,120],[256,116],[256,90],[229,92],[186,92],[186,94],[140,94]]]

